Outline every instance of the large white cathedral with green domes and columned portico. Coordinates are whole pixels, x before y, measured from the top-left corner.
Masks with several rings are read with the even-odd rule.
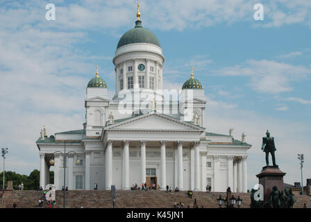
[[[247,191],[251,145],[244,135],[234,139],[232,129],[230,135],[208,133],[201,83],[191,72],[182,89],[163,90],[164,62],[160,42],[142,27],[138,10],[135,28],[121,37],[113,58],[113,99],[96,69],[86,88],[83,129],[50,137],[45,126],[41,130],[36,144],[43,189],[53,166],[56,189],[65,180],[69,190],[94,189],[95,183],[100,190],[128,190],[146,182],[160,189]]]

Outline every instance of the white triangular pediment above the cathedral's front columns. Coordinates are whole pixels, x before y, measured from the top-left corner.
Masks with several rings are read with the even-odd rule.
[[[204,128],[192,123],[186,123],[169,117],[165,114],[144,114],[119,123],[106,126],[104,130],[168,130],[168,131],[197,131],[203,132]]]

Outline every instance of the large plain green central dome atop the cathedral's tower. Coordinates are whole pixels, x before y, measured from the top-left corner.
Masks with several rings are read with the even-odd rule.
[[[149,29],[142,27],[142,21],[137,20],[135,28],[130,29],[119,40],[117,49],[126,44],[150,43],[160,47],[158,38]]]

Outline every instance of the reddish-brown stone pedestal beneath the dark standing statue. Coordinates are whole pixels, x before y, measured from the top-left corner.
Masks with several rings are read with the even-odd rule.
[[[278,167],[262,167],[262,171],[256,176],[258,177],[259,184],[264,187],[264,200],[270,199],[272,187],[276,186],[280,191],[284,189],[283,177],[285,174]]]

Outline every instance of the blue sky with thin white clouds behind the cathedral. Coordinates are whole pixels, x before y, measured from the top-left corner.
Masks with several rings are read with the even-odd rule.
[[[56,20],[45,6],[54,3]],[[264,20],[253,19],[262,3]],[[119,37],[135,25],[137,1],[1,1],[1,147],[7,167],[19,173],[39,169],[35,140],[82,128],[85,87],[95,66],[115,92],[112,58]],[[298,153],[305,154],[304,178],[311,178],[311,2],[308,0],[140,1],[142,25],[160,40],[164,86],[179,89],[199,79],[208,99],[209,132],[252,144],[249,188],[264,165],[261,138],[276,138],[277,163],[285,182],[300,181]],[[1,160],[2,161],[2,160]]]

